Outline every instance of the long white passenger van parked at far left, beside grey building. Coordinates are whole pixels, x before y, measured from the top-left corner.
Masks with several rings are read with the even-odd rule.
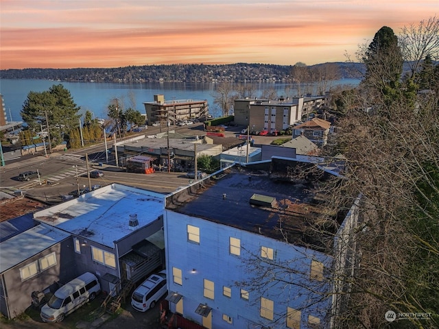
[[[94,300],[100,292],[101,285],[96,276],[86,272],[58,289],[41,308],[40,317],[45,322],[61,322],[89,300]]]

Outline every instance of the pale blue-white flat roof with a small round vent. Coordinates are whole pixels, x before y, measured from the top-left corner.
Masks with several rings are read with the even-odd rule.
[[[114,247],[133,231],[130,215],[137,215],[138,228],[163,215],[165,195],[122,184],[110,184],[34,214],[34,219],[89,241]]]

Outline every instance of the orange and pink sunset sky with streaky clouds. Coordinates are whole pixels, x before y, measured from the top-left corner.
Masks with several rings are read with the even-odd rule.
[[[0,69],[355,60],[438,0],[0,0]]]

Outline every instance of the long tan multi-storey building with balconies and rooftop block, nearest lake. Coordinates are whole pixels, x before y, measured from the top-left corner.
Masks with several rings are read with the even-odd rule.
[[[158,121],[163,126],[176,124],[187,119],[206,118],[209,114],[207,101],[200,99],[174,99],[165,101],[165,95],[154,95],[154,101],[144,102],[147,122],[152,125]]]

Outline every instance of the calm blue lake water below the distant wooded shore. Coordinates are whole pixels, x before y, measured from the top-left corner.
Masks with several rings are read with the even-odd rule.
[[[331,84],[357,85],[359,80],[337,80]],[[165,95],[165,100],[174,99],[206,99],[209,112],[218,117],[221,110],[213,103],[217,84],[194,84],[185,82],[150,82],[137,84],[119,84],[108,82],[57,82],[51,80],[10,80],[0,79],[0,93],[3,95],[5,112],[8,121],[22,121],[20,111],[30,91],[42,92],[49,90],[54,84],[62,84],[70,91],[73,101],[81,107],[80,113],[86,110],[93,112],[97,118],[107,117],[107,108],[112,99],[119,99],[125,108],[132,107],[145,113],[144,102],[154,101],[154,95]],[[278,83],[252,83],[257,96],[263,90],[274,88],[278,96],[294,96],[296,86]],[[293,94],[293,95],[291,95]],[[134,100],[135,106],[132,106]],[[12,117],[12,118],[11,118]]]

